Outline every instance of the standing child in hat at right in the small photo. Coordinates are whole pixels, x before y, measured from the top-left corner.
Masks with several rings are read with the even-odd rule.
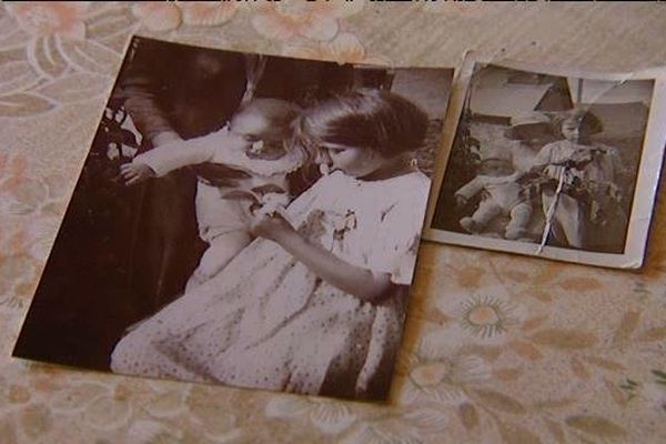
[[[618,151],[591,140],[603,131],[603,125],[589,111],[574,109],[564,114],[559,131],[563,139],[542,148],[533,167],[533,171],[553,179],[554,185],[542,192],[543,211],[546,218],[551,215],[553,234],[565,246],[588,249],[592,224],[606,224],[606,229],[615,225],[620,231],[614,236],[619,246],[624,243],[626,214],[618,205],[622,191],[617,179],[625,170]],[[563,191],[556,195],[555,184],[561,181]]]

